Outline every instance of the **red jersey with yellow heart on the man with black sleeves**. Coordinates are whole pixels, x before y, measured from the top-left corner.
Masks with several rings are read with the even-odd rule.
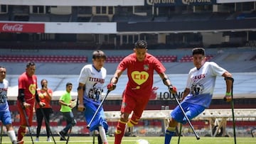
[[[37,89],[37,77],[33,74],[29,77],[26,72],[23,72],[20,77],[18,77],[18,89],[24,89],[24,99],[29,101],[35,98]]]

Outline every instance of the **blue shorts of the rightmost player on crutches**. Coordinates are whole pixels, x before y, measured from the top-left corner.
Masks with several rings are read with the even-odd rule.
[[[206,109],[205,106],[201,106],[198,104],[191,104],[187,102],[181,102],[181,107],[185,111],[186,116],[188,116],[189,120],[195,118]],[[179,123],[185,124],[187,122],[186,117],[184,116],[179,106],[176,106],[176,108],[173,111],[171,111],[171,117],[174,118],[175,121],[178,121]]]

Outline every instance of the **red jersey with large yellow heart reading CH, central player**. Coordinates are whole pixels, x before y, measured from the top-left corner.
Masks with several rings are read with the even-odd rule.
[[[127,69],[128,82],[125,93],[137,98],[151,95],[154,70],[158,74],[166,71],[164,65],[149,53],[146,53],[142,62],[137,60],[135,53],[128,55],[119,63],[117,69],[122,71]]]

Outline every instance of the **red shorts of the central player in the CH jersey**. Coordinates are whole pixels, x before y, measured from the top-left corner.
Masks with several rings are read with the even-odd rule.
[[[149,96],[147,95],[142,95],[138,99],[136,96],[129,96],[124,93],[124,97],[122,99],[121,112],[132,113],[133,111],[134,115],[140,118],[148,102]]]

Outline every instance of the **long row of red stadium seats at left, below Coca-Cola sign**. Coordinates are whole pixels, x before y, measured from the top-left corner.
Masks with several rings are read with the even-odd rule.
[[[1,62],[87,62],[87,57],[80,55],[0,55]]]

